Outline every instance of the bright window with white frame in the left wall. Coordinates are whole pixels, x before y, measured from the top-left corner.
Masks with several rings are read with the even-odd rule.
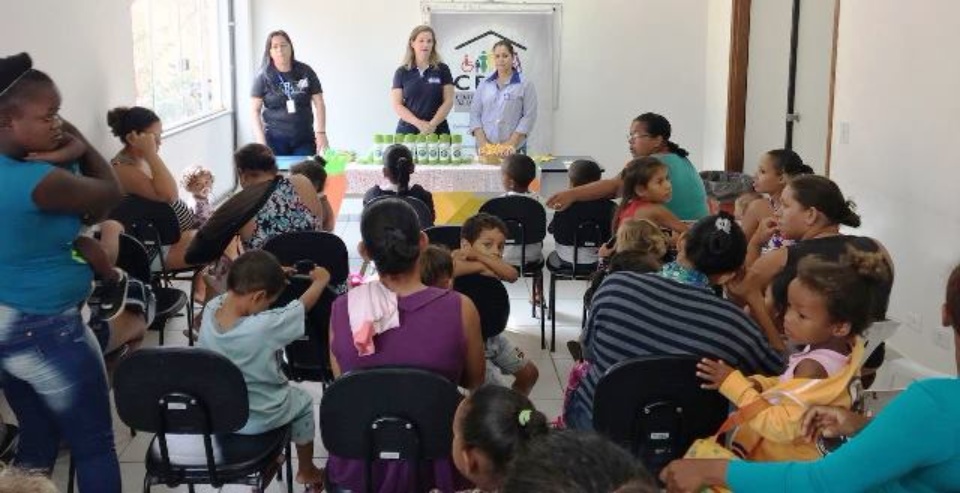
[[[134,0],[133,65],[137,105],[166,129],[222,111],[221,9],[224,0]]]

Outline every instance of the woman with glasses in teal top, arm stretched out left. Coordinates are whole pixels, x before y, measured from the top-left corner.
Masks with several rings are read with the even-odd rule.
[[[630,123],[627,143],[634,158],[655,157],[667,165],[673,197],[665,205],[683,221],[696,221],[709,214],[707,192],[686,149],[670,140],[670,122],[656,113],[644,113]],[[574,202],[616,197],[623,180],[616,178],[596,181],[559,192],[547,200],[547,206],[556,210],[570,207]]]

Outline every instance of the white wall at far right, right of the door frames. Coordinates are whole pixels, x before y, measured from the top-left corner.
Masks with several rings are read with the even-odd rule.
[[[960,66],[945,63],[947,47],[960,46],[960,3],[904,7],[841,2],[831,175],[860,206],[859,233],[893,255],[891,315],[904,326],[892,345],[952,374],[952,336],[939,325],[946,276],[960,261]]]

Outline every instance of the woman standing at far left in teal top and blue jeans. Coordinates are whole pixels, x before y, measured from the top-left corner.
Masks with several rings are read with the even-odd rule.
[[[119,493],[103,358],[78,309],[92,271],[72,244],[81,217],[102,219],[121,191],[59,110],[26,53],[0,58],[0,380],[21,428],[19,467],[49,472],[62,439],[81,492]],[[80,174],[42,158],[79,161]]]

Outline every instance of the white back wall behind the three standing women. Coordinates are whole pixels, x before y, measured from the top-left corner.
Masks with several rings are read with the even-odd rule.
[[[422,20],[419,0],[251,1],[253,52],[240,57],[258,60],[266,33],[286,30],[323,84],[332,146],[365,151],[372,134],[394,128],[390,82]],[[553,153],[589,154],[619,169],[629,158],[630,120],[655,111],[700,165],[706,25],[704,0],[564,1]],[[252,77],[239,74],[241,105]],[[541,118],[550,117],[546,109]],[[241,106],[241,142],[251,138],[248,113]]]

